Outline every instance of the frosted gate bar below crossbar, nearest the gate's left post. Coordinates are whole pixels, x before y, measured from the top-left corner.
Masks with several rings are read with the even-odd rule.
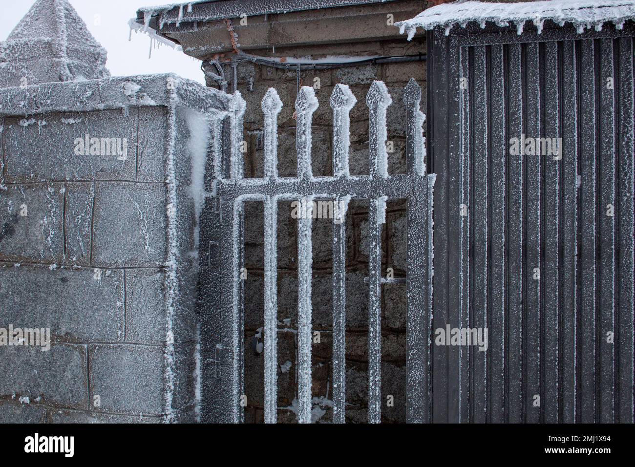
[[[277,199],[264,202],[265,423],[277,420]]]

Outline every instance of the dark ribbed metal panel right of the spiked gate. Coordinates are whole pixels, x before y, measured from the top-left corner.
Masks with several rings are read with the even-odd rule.
[[[428,36],[430,418],[632,423],[634,29],[510,31]]]

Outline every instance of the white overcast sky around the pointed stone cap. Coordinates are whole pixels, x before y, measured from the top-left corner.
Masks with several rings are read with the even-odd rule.
[[[0,41],[4,41],[18,21],[29,11],[35,0],[0,0]],[[137,9],[170,0],[69,0],[84,20],[95,39],[108,51],[106,66],[112,76],[133,74],[176,73],[183,78],[204,83],[201,62],[168,46],[150,51],[147,34],[132,33],[128,20],[137,16]]]

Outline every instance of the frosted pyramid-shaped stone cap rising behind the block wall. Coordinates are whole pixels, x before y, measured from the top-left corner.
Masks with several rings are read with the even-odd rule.
[[[67,0],[36,0],[0,43],[0,88],[110,76],[106,51]]]

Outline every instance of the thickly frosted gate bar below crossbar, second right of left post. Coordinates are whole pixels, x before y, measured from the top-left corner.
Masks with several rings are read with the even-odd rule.
[[[300,114],[298,112],[298,121]],[[300,200],[312,206],[313,197]],[[311,423],[311,275],[312,213],[303,210],[298,217],[298,423]]]

